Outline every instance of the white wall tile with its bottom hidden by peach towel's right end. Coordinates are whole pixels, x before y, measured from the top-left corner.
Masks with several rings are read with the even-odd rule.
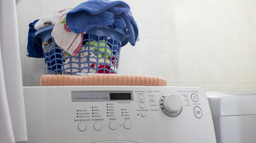
[[[168,40],[141,38],[141,55],[144,76],[163,77],[171,82]]]

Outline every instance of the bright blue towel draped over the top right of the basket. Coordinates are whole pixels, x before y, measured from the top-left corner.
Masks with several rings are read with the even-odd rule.
[[[82,33],[93,27],[111,25],[113,28],[128,29],[128,40],[135,45],[139,35],[130,6],[123,1],[89,0],[73,8],[66,15],[71,31]]]

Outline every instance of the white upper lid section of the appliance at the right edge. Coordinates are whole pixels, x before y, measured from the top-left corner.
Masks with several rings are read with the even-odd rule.
[[[212,117],[256,115],[255,90],[206,92]]]

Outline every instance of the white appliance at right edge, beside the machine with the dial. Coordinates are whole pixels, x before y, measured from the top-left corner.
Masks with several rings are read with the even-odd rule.
[[[256,142],[256,91],[206,92],[217,143]]]

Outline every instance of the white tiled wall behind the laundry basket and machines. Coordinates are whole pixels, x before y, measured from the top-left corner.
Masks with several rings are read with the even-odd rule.
[[[38,86],[43,59],[27,57],[28,24],[86,0],[22,0],[17,7],[24,86]],[[160,76],[168,86],[256,89],[255,0],[123,0],[140,41],[122,47],[118,73]]]

